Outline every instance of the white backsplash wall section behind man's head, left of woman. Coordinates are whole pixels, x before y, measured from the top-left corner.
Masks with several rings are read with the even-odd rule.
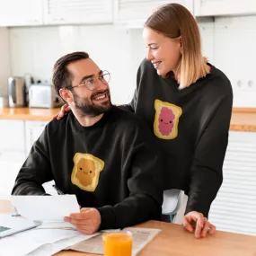
[[[83,50],[110,72],[112,102],[129,102],[136,87],[133,43],[130,31],[111,25],[11,28],[11,73],[50,81],[58,57]]]

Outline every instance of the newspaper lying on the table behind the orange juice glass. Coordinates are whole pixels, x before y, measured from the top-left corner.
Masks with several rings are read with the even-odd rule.
[[[150,243],[154,237],[161,232],[161,229],[128,227],[122,229],[122,231],[131,232],[133,238],[132,256],[136,256],[147,243]],[[107,233],[113,233],[113,231]],[[68,249],[78,252],[103,254],[102,234],[96,235],[81,243],[76,243]],[[106,232],[104,232],[104,234],[106,234]]]

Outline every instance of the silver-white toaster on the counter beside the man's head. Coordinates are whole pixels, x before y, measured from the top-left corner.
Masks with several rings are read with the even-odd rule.
[[[52,84],[31,84],[29,89],[30,108],[57,108],[64,104]]]

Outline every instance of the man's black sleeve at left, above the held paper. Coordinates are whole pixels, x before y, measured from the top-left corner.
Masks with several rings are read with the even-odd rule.
[[[48,128],[48,127],[47,127]],[[16,178],[12,195],[44,195],[42,184],[53,180],[49,162],[47,128],[34,143]]]

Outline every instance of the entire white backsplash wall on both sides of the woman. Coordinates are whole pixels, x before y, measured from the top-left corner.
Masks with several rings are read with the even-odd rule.
[[[256,107],[256,15],[200,18],[203,52],[234,87],[234,107]],[[49,80],[51,67],[67,52],[88,51],[111,73],[113,103],[126,103],[136,86],[137,66],[146,56],[142,29],[112,25],[10,29],[12,75]]]

